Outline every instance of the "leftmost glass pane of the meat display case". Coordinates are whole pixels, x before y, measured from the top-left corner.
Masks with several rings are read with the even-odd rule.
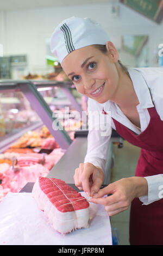
[[[22,92],[0,91],[0,137],[12,135],[40,120]]]

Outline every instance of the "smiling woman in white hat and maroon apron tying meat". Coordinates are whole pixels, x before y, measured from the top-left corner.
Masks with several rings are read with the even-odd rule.
[[[102,27],[87,18],[61,22],[51,50],[78,92],[89,97],[88,112],[110,111],[111,127],[141,148],[135,176],[99,190],[111,132],[102,137],[98,130],[89,131],[84,163],[74,174],[76,186],[92,197],[90,202],[103,204],[109,216],[131,203],[131,245],[163,245],[162,70],[125,68]]]

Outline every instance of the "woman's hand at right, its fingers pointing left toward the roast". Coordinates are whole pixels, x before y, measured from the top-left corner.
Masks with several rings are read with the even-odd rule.
[[[103,197],[111,194],[111,196]],[[147,180],[143,177],[123,178],[99,190],[89,199],[90,202],[103,204],[109,216],[127,210],[135,197],[148,194]]]

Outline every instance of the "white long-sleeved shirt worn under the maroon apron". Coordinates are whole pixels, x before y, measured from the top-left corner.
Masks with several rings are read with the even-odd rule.
[[[108,100],[101,104],[89,98],[87,111],[88,113],[91,111],[102,112],[104,107],[104,111],[110,111],[111,113],[111,130],[112,128],[116,130],[114,121],[112,120],[112,118],[114,118],[130,130],[140,134],[147,128],[150,121],[150,115],[147,108],[154,107],[155,105],[156,111],[159,114],[160,119],[163,121],[163,68],[129,68],[128,72],[133,82],[135,93],[140,102],[139,105],[136,106],[140,117],[140,129],[131,123],[117,104],[112,101]],[[107,137],[103,137],[101,136],[100,131],[89,130],[87,137],[87,154],[84,162],[90,162],[104,170],[110,137],[111,131]],[[148,182],[148,196],[139,197],[139,199],[143,204],[147,205],[161,198],[161,193],[159,192],[161,192],[161,188],[163,191],[163,166],[162,174],[147,176],[145,178]]]

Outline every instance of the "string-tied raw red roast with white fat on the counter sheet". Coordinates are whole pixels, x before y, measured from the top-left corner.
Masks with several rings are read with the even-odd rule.
[[[89,203],[65,181],[40,176],[32,196],[59,233],[67,234],[89,226]]]

